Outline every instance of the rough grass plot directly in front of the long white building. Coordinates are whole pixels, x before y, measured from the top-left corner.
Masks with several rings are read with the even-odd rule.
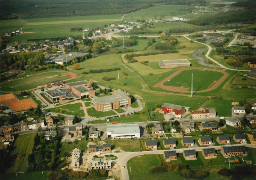
[[[126,152],[142,151],[140,139],[118,139],[105,142],[110,143],[111,146],[114,145],[114,148],[120,147],[121,150]]]

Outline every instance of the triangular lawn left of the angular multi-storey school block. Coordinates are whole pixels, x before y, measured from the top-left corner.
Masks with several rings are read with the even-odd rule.
[[[77,114],[80,117],[84,117],[84,110],[81,110],[80,107],[82,107],[82,104],[79,102],[79,103],[75,103],[75,104],[67,104],[64,106],[59,106],[57,108],[46,109],[45,111],[58,113],[57,109],[60,109],[60,110],[63,110],[62,114],[68,114],[68,115]]]

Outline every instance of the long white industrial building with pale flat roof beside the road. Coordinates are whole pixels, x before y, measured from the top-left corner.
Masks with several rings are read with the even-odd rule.
[[[140,138],[139,124],[108,124],[107,137],[114,138]]]

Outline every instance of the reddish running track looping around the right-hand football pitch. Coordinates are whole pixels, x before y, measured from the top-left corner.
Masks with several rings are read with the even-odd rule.
[[[175,73],[173,73],[172,75],[170,75],[169,77],[165,78],[164,80],[160,81],[159,83],[157,83],[155,86],[153,87],[160,87],[161,89],[165,89],[168,91],[173,91],[173,92],[180,92],[180,93],[188,93],[188,89],[189,88],[184,88],[184,87],[174,87],[174,86],[164,86],[164,82],[166,82],[167,80],[173,78],[174,76],[176,76],[177,74],[179,74],[181,71],[186,71],[186,70],[191,70],[191,69],[200,69],[200,70],[208,70],[208,71],[217,71],[217,72],[221,72],[224,74],[223,77],[220,78],[220,80],[218,80],[212,87],[210,87],[209,89],[206,90],[201,90],[201,91],[197,91],[197,93],[202,93],[202,92],[208,92],[208,91],[212,91],[215,88],[217,88],[228,76],[229,74],[227,74],[227,72],[221,71],[221,70],[217,70],[217,69],[205,69],[205,68],[190,68],[190,69],[185,69],[185,68],[181,68],[178,71],[176,71]],[[193,91],[195,92],[195,91]]]

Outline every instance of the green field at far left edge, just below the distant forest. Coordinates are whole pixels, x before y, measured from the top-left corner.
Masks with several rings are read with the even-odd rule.
[[[5,34],[11,30],[16,30],[25,24],[24,21],[15,20],[2,20],[0,21],[0,34]]]

